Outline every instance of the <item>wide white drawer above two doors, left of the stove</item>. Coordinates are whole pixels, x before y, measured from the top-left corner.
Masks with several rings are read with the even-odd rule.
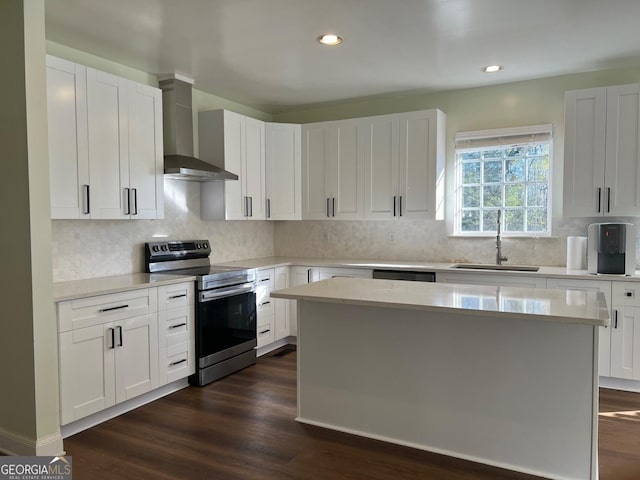
[[[146,315],[157,311],[156,288],[68,300],[58,303],[58,332]]]

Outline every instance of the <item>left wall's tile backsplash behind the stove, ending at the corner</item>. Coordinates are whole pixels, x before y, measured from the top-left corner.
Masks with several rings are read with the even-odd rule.
[[[165,180],[163,220],[52,223],[54,282],[142,272],[144,243],[153,241],[153,235],[167,235],[168,240],[208,239],[214,263],[274,254],[271,222],[201,220],[196,182]]]

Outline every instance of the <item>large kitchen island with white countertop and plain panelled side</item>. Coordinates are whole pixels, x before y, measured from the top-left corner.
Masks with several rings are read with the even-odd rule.
[[[298,300],[303,423],[597,478],[601,293],[333,278]]]

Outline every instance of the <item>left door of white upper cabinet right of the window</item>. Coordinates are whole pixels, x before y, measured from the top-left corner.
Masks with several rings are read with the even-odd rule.
[[[607,90],[593,88],[565,94],[564,215],[602,215],[606,195],[605,128]]]

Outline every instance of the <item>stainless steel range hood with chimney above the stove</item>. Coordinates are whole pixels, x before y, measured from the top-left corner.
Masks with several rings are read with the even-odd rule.
[[[238,175],[193,156],[191,84],[178,78],[160,81],[164,123],[164,176],[212,182],[238,180]]]

